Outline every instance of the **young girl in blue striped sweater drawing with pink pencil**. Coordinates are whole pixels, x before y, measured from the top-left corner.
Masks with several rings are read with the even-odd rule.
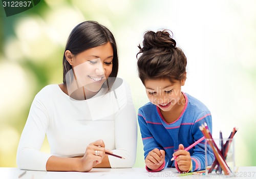
[[[208,108],[181,91],[186,80],[186,56],[167,30],[147,31],[139,49],[138,73],[150,100],[138,111],[146,170],[205,169],[204,141],[184,150],[203,137],[201,124],[206,122],[212,131]],[[177,156],[175,161],[173,156]],[[212,163],[214,154],[208,153],[207,160]]]

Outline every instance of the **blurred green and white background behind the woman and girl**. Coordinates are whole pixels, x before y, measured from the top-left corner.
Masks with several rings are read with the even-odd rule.
[[[255,166],[256,2],[172,0],[41,0],[6,17],[0,7],[0,167],[16,167],[16,150],[35,94],[62,82],[62,55],[75,25],[96,20],[117,40],[119,77],[136,110],[148,100],[137,76],[136,54],[146,30],[170,29],[187,56],[183,91],[212,113],[214,137],[233,127],[236,165]],[[45,140],[42,148],[50,152]],[[135,167],[144,167],[138,127]]]

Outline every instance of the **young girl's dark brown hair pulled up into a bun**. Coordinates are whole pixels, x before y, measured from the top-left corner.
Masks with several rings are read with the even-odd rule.
[[[167,78],[173,80],[184,79],[187,58],[180,48],[176,47],[173,33],[168,30],[146,31],[143,47],[138,46],[137,65],[139,77],[144,84],[146,79]],[[141,54],[138,58],[138,55]]]

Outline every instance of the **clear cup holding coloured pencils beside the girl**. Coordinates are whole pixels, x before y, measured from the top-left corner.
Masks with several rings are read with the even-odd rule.
[[[212,157],[214,156],[214,160]],[[205,140],[205,175],[233,176],[236,172],[234,162],[234,139]]]

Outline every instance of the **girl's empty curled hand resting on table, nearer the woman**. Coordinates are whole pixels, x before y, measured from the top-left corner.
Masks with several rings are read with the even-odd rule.
[[[145,164],[151,170],[156,170],[163,164],[164,158],[165,158],[165,151],[155,148],[150,152],[148,152],[145,159]]]

